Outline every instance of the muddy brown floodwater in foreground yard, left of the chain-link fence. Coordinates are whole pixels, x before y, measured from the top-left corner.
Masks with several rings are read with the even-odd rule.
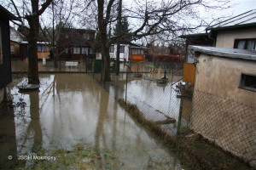
[[[85,143],[114,150],[123,169],[182,169],[177,157],[119,106],[115,90],[83,73],[40,74],[40,82],[36,92],[11,90],[16,107],[0,114],[1,165],[9,167],[40,147]]]

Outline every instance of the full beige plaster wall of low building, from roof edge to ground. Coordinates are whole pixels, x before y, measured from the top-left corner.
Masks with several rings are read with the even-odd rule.
[[[238,88],[241,73],[256,75],[256,62],[200,55],[191,127],[255,164],[256,93]]]

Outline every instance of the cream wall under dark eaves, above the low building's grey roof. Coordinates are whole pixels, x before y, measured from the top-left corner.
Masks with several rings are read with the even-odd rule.
[[[216,47],[217,48],[234,48],[235,39],[256,38],[256,29],[243,29],[237,31],[218,31]]]

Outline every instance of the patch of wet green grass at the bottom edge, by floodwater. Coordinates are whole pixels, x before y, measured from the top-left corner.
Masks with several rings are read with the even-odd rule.
[[[73,150],[38,150],[38,156],[55,156],[54,160],[33,160],[32,165],[16,169],[121,169],[113,150],[88,144],[76,144]]]

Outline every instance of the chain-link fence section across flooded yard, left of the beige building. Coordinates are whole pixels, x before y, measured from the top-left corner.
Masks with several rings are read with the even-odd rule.
[[[94,72],[98,70],[96,68],[91,71],[90,76],[100,82],[102,87],[112,91],[116,99],[123,99],[127,104],[136,105],[137,109],[143,113],[144,119],[153,122],[169,135],[176,136],[181,101],[177,87],[182,79],[183,65],[131,62],[128,67],[120,66],[120,68],[122,73],[119,73],[119,76],[115,73],[111,74],[112,82],[102,82],[102,74]],[[168,79],[164,84],[157,82],[162,77]],[[183,126],[189,125],[190,104],[191,99],[183,102],[183,111],[186,112],[182,118]],[[187,105],[190,108],[187,108]]]

